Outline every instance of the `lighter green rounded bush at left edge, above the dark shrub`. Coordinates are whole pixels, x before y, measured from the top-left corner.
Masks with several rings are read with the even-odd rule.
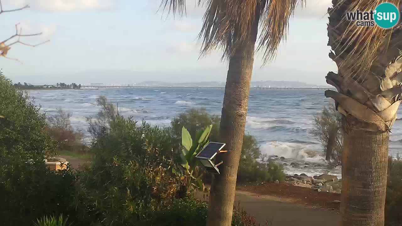
[[[0,160],[43,160],[45,155],[55,153],[57,145],[45,129],[45,115],[1,71],[0,100],[0,147],[7,150],[3,153],[7,156],[0,156]]]

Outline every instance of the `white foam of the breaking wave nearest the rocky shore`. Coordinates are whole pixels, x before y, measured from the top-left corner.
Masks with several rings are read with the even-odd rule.
[[[312,151],[306,145],[292,144],[286,142],[267,142],[260,147],[262,154],[269,156],[277,155],[306,162],[325,163],[320,153]]]

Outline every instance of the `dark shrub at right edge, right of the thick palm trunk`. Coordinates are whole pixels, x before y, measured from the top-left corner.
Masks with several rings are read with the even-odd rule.
[[[385,205],[386,226],[402,222],[402,160],[388,160],[388,181]]]

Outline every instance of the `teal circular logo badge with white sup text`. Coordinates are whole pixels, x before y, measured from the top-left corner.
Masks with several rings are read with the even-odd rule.
[[[391,3],[382,3],[375,8],[374,20],[378,26],[388,29],[392,28],[399,21],[399,10],[398,7]]]

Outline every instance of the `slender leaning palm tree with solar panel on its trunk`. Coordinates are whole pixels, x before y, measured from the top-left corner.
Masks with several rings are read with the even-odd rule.
[[[246,124],[250,81],[254,64],[258,27],[258,49],[265,61],[273,60],[277,47],[285,39],[288,20],[298,2],[303,0],[198,0],[207,5],[199,38],[201,54],[223,50],[229,62],[220,137],[226,143],[226,154],[217,157],[219,166],[211,185],[207,226],[230,226],[236,188],[236,175]],[[183,15],[185,0],[162,0],[162,7]]]

